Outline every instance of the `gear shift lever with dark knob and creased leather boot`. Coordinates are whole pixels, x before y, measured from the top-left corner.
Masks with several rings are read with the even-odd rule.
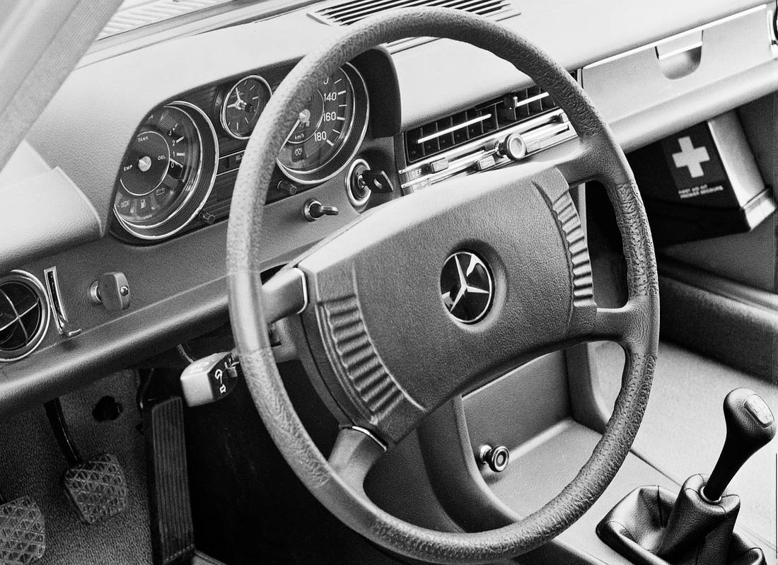
[[[641,486],[598,525],[600,538],[640,565],[766,565],[762,549],[734,532],[740,497],[724,490],[776,434],[773,412],[754,391],[724,398],[727,439],[710,478],[692,475],[678,491]]]

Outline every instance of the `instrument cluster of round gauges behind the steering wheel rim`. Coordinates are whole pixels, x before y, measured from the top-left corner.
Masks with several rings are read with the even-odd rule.
[[[162,240],[195,220],[226,217],[247,140],[282,78],[279,72],[237,77],[149,112],[117,177],[114,216],[121,230]],[[268,201],[335,177],[358,152],[369,118],[366,82],[353,65],[324,79],[279,153],[277,190]]]

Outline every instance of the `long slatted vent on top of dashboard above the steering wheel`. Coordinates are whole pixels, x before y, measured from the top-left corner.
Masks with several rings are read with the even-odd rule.
[[[519,13],[511,0],[345,0],[310,12],[310,16],[330,26],[351,26],[360,19],[387,10],[422,7],[451,8],[490,19],[506,19]],[[412,37],[393,41],[387,47],[396,53],[432,40],[432,37]]]

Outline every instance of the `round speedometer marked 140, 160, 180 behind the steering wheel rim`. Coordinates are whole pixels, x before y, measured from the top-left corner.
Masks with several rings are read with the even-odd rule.
[[[334,177],[359,149],[368,113],[362,75],[352,65],[339,68],[321,82],[300,111],[279,153],[279,167],[303,184]]]

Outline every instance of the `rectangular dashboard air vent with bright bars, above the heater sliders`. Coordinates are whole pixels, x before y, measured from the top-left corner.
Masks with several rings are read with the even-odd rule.
[[[557,107],[552,97],[538,86],[518,90],[408,130],[405,132],[405,157],[408,163],[415,163]]]

